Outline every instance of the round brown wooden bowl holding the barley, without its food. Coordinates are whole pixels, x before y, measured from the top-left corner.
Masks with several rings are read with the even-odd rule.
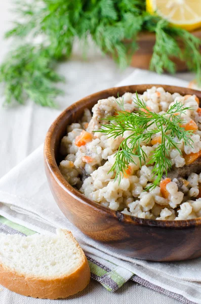
[[[52,194],[64,215],[90,238],[111,250],[152,261],[185,260],[201,256],[201,218],[189,220],[152,220],[125,215],[103,207],[76,191],[61,175],[59,147],[66,126],[77,122],[85,108],[91,109],[99,99],[122,96],[125,92],[142,94],[153,85],[111,88],[87,96],[72,104],[50,127],[44,148],[45,169]],[[187,88],[163,87],[181,95],[201,92]]]

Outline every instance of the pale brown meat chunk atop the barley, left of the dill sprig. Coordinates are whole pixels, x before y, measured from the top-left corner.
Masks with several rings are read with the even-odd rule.
[[[119,110],[119,106],[114,97],[99,100],[92,109],[93,116],[87,127],[87,132],[100,129],[101,124],[107,123],[103,119],[107,116],[113,116],[116,110]]]

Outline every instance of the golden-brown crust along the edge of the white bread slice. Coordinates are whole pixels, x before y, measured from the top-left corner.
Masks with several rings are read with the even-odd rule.
[[[66,298],[82,291],[90,282],[90,268],[82,248],[69,231],[63,231],[71,238],[82,256],[79,267],[70,275],[59,278],[37,278],[18,274],[0,264],[0,284],[16,293],[35,298],[57,299]]]

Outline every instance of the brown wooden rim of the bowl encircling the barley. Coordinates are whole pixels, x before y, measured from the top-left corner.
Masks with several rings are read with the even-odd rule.
[[[150,89],[151,87],[163,87],[167,92],[168,89],[174,88],[175,90],[183,90],[186,91],[186,94],[195,94],[200,100],[201,100],[201,91],[188,89],[184,87],[179,86],[171,86],[171,85],[158,85],[158,84],[145,84],[145,85],[128,85],[128,86],[121,86],[121,87],[113,87],[106,90],[102,90],[96,93],[93,93],[91,95],[88,95],[82,99],[79,99],[78,101],[74,102],[70,106],[68,106],[66,109],[64,109],[60,115],[54,120],[54,122],[51,124],[44,143],[44,161],[47,165],[48,169],[50,170],[52,176],[54,177],[55,181],[64,189],[65,192],[67,192],[70,196],[73,198],[79,200],[83,204],[90,205],[94,209],[98,209],[99,212],[105,213],[107,215],[110,215],[112,217],[117,218],[119,221],[131,223],[131,224],[138,224],[143,226],[156,226],[156,227],[164,227],[168,229],[182,229],[182,228],[189,228],[194,227],[197,225],[201,225],[201,217],[193,218],[193,219],[186,219],[186,220],[156,220],[156,219],[146,219],[146,218],[139,218],[135,216],[131,216],[128,214],[123,214],[120,211],[115,211],[112,209],[109,209],[107,207],[104,207],[100,204],[98,204],[95,201],[92,201],[88,199],[86,196],[81,194],[78,190],[73,188],[62,176],[60,173],[59,167],[57,165],[56,159],[55,159],[55,153],[54,153],[54,144],[56,141],[56,134],[59,130],[60,122],[64,119],[66,116],[66,113],[71,111],[74,107],[85,104],[85,101],[91,99],[91,98],[97,98],[97,101],[100,99],[99,95],[102,93],[108,93],[108,97],[112,96],[109,95],[110,91],[116,91],[118,90],[126,90],[125,92],[129,92],[129,88],[132,90],[133,87],[143,88],[146,87],[146,89]],[[145,90],[146,90],[145,89]],[[136,89],[135,89],[136,90]],[[132,90],[133,91],[133,90]],[[176,91],[175,91],[176,92]],[[52,147],[52,148],[51,148]]]

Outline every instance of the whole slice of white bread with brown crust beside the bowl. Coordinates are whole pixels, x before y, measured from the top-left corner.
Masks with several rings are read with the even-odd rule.
[[[0,234],[0,284],[22,295],[65,298],[83,290],[90,268],[71,232],[55,236]]]

